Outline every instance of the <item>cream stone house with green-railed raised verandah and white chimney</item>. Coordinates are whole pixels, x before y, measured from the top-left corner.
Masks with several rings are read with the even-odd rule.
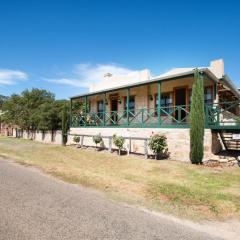
[[[222,59],[198,69],[204,81],[207,158],[224,146],[228,148],[224,134],[240,134],[236,121],[240,115],[240,92],[225,74]],[[188,160],[194,73],[195,68],[175,68],[157,77],[151,77],[146,69],[124,76],[106,73],[101,82],[90,87],[89,93],[70,98],[70,135],[100,133],[149,138],[158,132],[167,137],[172,158]],[[93,145],[91,138],[84,141]],[[146,148],[139,140],[130,145],[131,151],[137,153]]]

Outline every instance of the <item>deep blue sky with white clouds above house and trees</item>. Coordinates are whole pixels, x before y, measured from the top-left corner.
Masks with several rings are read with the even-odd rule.
[[[240,87],[239,12],[237,0],[1,0],[0,94],[69,98],[104,72],[160,75],[219,58]]]

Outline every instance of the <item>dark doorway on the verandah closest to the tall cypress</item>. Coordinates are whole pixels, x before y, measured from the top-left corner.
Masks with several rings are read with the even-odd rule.
[[[178,121],[186,121],[186,97],[187,88],[176,88],[175,89],[175,118]],[[185,109],[185,110],[184,110]]]

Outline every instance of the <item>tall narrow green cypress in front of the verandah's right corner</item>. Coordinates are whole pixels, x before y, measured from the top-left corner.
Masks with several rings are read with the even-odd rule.
[[[202,164],[204,153],[204,119],[203,76],[199,74],[197,69],[194,73],[190,111],[190,160],[193,164]]]

